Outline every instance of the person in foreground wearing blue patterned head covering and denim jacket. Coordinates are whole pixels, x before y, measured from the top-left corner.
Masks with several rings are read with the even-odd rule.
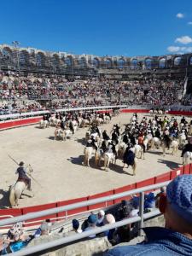
[[[144,228],[146,241],[114,247],[105,255],[192,255],[192,175],[172,180],[166,194],[160,195],[159,208],[165,217],[165,228]]]

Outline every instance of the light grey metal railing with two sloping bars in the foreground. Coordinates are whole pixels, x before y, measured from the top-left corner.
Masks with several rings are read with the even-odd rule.
[[[119,222],[116,222],[115,224],[108,224],[105,225],[103,227],[99,227],[96,228],[94,230],[90,230],[90,231],[84,231],[81,234],[76,234],[73,236],[67,236],[67,237],[63,237],[60,239],[56,239],[55,241],[49,241],[49,242],[45,242],[43,244],[39,244],[37,246],[33,246],[33,247],[26,247],[22,250],[20,250],[19,252],[14,253],[15,256],[22,256],[22,255],[29,255],[32,253],[38,253],[40,251],[44,251],[47,250],[49,248],[52,247],[57,247],[57,246],[61,246],[64,245],[68,242],[71,241],[79,241],[82,238],[88,237],[90,235],[94,235],[94,234],[98,234],[101,233],[103,231],[106,230],[111,230],[114,228],[118,228],[120,226],[123,226],[125,224],[131,224],[131,223],[135,223],[135,222],[139,222],[139,227],[142,228],[143,227],[143,221],[146,218],[152,218],[155,216],[158,216],[160,214],[160,211],[155,209],[153,212],[148,212],[148,213],[143,213],[144,210],[144,192],[146,191],[150,191],[150,190],[154,190],[154,189],[159,189],[160,187],[164,187],[166,186],[168,183],[170,183],[170,181],[164,182],[164,183],[157,183],[154,185],[149,185],[140,189],[133,189],[130,191],[126,191],[123,193],[119,193],[117,195],[108,195],[108,196],[104,196],[101,198],[97,198],[97,199],[93,199],[90,201],[83,201],[83,202],[79,202],[79,203],[74,203],[65,207],[57,207],[57,208],[53,208],[53,209],[49,209],[49,210],[44,210],[44,211],[40,211],[40,212],[30,212],[30,213],[26,213],[25,215],[19,216],[19,217],[14,217],[14,218],[6,218],[3,220],[0,220],[0,226],[3,225],[7,225],[7,224],[14,224],[16,222],[20,222],[20,221],[26,221],[27,219],[32,219],[32,218],[39,218],[39,217],[44,217],[47,215],[51,215],[54,213],[58,213],[58,212],[66,212],[68,210],[72,210],[75,208],[79,208],[79,207],[86,207],[86,206],[91,206],[91,205],[95,205],[97,203],[101,203],[101,202],[105,202],[105,201],[112,201],[115,199],[119,199],[128,195],[135,195],[135,194],[139,194],[139,216],[135,217],[135,218],[127,218],[124,220],[121,220]],[[140,231],[141,234],[141,231]],[[12,253],[9,253],[9,255],[12,255]]]

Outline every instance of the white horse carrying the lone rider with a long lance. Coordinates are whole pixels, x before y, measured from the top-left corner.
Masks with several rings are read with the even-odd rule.
[[[29,167],[29,173],[32,172],[32,167]],[[18,181],[14,185],[12,185],[9,189],[9,201],[11,207],[18,207],[19,203],[18,200],[20,199],[20,196],[24,192],[24,190],[27,188],[27,184],[24,181]],[[31,192],[32,194],[32,192]],[[34,195],[32,194],[31,197]]]

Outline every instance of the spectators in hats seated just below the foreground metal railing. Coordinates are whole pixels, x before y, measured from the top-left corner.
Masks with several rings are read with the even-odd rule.
[[[155,207],[154,201],[154,193],[149,193],[145,196],[145,212],[150,211]],[[87,230],[94,230],[96,227],[114,224],[116,221],[125,218],[137,217],[139,212],[138,208],[139,198],[135,195],[132,197],[131,201],[121,201],[117,207],[106,212],[103,210],[90,212],[88,218],[85,218],[83,222],[82,220],[73,218],[69,231],[66,231],[62,226],[57,229],[57,232],[60,234],[62,233],[62,236],[72,236]],[[0,234],[0,255],[17,252],[26,247],[32,239],[51,235],[51,229],[53,227],[54,223],[50,222],[49,219],[46,219],[37,230],[27,233],[23,228],[23,223],[20,222],[14,224],[6,235]],[[116,245],[123,241],[130,241],[133,237],[137,236],[137,234],[137,224],[129,224],[117,229],[107,230],[98,235],[90,235],[86,239],[105,236],[112,245]]]

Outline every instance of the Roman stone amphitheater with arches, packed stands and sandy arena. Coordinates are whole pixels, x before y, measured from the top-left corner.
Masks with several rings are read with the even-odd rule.
[[[131,203],[130,195],[139,201],[137,217],[120,219],[113,228],[119,221],[137,221],[141,228],[145,219],[159,216],[155,200],[145,212],[148,191],[156,196],[174,177],[192,173],[186,149],[192,136],[191,74],[191,54],[73,55],[0,45],[1,233],[23,221],[32,235],[48,219],[54,227],[49,233],[60,240],[49,236],[44,249],[63,246],[79,240],[64,237],[72,231],[72,218],[82,223],[99,210],[115,215],[123,199]],[[144,159],[136,148],[140,154],[146,150]],[[90,166],[84,165],[89,158]],[[105,168],[107,160],[113,161]],[[16,172],[20,161],[33,172]],[[29,177],[32,191],[26,189]],[[43,255],[37,244],[38,236],[34,247],[18,255]]]

